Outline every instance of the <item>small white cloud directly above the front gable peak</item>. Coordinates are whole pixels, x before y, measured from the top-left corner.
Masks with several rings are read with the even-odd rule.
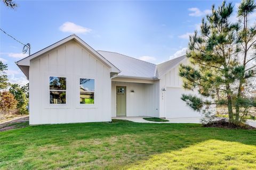
[[[73,22],[65,22],[60,28],[62,32],[71,32],[71,33],[89,33],[92,30],[89,28],[82,27],[81,25],[77,25]]]

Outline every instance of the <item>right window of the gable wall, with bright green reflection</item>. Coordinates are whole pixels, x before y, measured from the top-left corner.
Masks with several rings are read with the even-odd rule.
[[[80,79],[80,104],[94,104],[94,79]]]

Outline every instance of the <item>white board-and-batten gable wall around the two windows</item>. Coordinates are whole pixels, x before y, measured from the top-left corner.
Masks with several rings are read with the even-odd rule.
[[[66,104],[50,104],[49,78],[66,77]],[[95,79],[94,105],[79,103],[79,79]],[[110,68],[74,40],[30,61],[29,123],[111,121]]]

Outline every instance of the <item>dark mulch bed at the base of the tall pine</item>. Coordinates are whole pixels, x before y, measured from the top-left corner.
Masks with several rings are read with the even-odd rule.
[[[222,120],[209,122],[207,124],[203,125],[207,128],[227,128],[227,129],[256,129],[253,126],[246,125],[244,123],[241,123],[239,125],[229,123],[224,118]]]

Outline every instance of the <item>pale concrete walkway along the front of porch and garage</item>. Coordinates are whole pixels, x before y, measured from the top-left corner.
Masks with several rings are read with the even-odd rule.
[[[143,120],[143,117],[147,116],[134,116],[134,117],[112,117],[112,119],[127,120],[137,123],[201,123],[201,117],[186,117],[186,118],[167,118],[169,122],[152,122]]]

